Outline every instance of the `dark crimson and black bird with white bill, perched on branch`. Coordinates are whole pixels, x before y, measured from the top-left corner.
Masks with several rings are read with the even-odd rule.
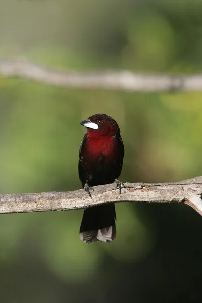
[[[85,192],[91,197],[92,186],[109,183],[121,189],[118,180],[124,158],[124,144],[117,122],[106,114],[95,114],[80,122],[85,126],[79,149],[79,179]],[[115,204],[90,207],[84,210],[80,226],[80,239],[85,243],[96,241],[109,243],[116,238]]]

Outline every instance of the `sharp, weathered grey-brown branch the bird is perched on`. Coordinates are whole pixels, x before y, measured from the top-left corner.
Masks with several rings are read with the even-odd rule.
[[[202,215],[202,177],[177,183],[125,183],[121,195],[115,184],[95,186],[92,199],[83,189],[69,192],[0,194],[0,213],[85,209],[112,202],[185,203]]]

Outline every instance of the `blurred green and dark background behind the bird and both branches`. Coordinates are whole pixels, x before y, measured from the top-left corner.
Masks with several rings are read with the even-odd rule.
[[[2,0],[0,57],[61,70],[198,73],[201,0]],[[120,125],[120,179],[202,175],[202,92],[76,90],[0,78],[0,192],[81,188],[95,113]],[[117,239],[79,240],[83,211],[0,217],[3,303],[201,302],[202,218],[186,205],[117,204]]]

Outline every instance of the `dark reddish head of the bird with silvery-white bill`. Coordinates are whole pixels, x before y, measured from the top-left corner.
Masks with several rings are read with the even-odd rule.
[[[116,121],[106,114],[95,114],[82,121],[81,125],[87,128],[88,136],[114,136],[120,133]]]

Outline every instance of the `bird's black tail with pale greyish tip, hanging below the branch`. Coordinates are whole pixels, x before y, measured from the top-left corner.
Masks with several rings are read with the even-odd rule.
[[[112,242],[116,238],[116,212],[114,203],[84,210],[80,239],[85,243]]]

